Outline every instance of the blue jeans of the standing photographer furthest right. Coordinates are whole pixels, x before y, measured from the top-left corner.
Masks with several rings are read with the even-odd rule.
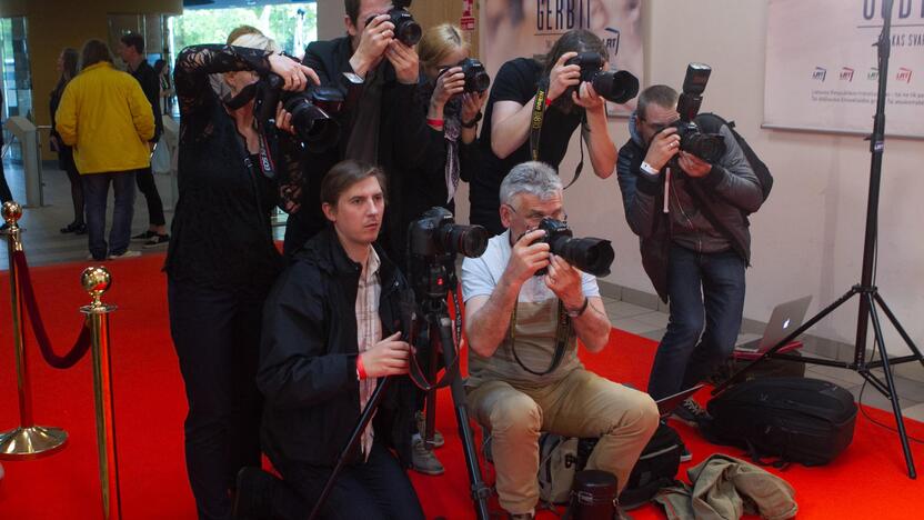
[[[732,250],[697,253],[671,246],[671,316],[651,369],[652,398],[699,383],[731,356],[744,311],[744,260]]]

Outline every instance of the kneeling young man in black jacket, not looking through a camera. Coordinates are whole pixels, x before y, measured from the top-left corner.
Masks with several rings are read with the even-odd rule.
[[[305,243],[267,299],[257,382],[265,397],[263,450],[282,474],[257,468],[238,479],[237,518],[305,518],[382,377],[393,377],[337,478],[323,518],[422,519],[394,449],[410,459],[414,387],[402,314],[404,277],[375,243],[384,176],[346,160],[321,186],[330,224]],[[301,510],[301,511],[300,511]],[[271,513],[271,514],[268,514]]]

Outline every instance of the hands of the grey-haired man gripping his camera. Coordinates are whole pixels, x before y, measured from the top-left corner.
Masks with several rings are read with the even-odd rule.
[[[536,271],[548,268],[545,286],[565,307],[580,307],[583,301],[581,271],[571,267],[563,258],[552,254],[549,243],[540,240],[544,236],[544,230],[534,229],[520,237],[511,248],[506,273],[511,281],[520,287],[535,276]]]

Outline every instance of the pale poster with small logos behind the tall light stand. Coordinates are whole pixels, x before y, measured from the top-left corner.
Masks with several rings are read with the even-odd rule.
[[[770,0],[764,126],[870,133],[883,0]],[[894,0],[885,133],[924,138],[924,0]]]

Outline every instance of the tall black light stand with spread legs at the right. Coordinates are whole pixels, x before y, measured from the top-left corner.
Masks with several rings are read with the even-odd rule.
[[[716,394],[723,391],[731,384],[734,384],[742,379],[744,373],[750,371],[755,364],[767,358],[785,359],[790,361],[799,361],[804,363],[824,364],[828,367],[840,367],[847,370],[855,370],[870,384],[878,390],[883,396],[887,397],[892,402],[892,411],[895,416],[895,423],[897,424],[898,438],[902,441],[902,450],[905,454],[905,463],[908,469],[908,477],[911,479],[917,478],[917,472],[914,467],[914,459],[912,458],[911,449],[908,448],[908,438],[905,433],[905,423],[902,418],[902,409],[898,406],[898,396],[895,393],[895,381],[892,377],[892,367],[910,361],[920,361],[924,366],[924,357],[914,344],[911,337],[905,332],[902,323],[895,318],[895,314],[885,303],[885,300],[876,289],[875,283],[875,263],[876,263],[876,233],[878,219],[878,201],[880,201],[880,180],[882,177],[882,153],[883,142],[885,140],[885,84],[888,78],[888,54],[891,51],[891,28],[892,28],[892,0],[885,0],[883,3],[883,29],[880,34],[877,47],[878,56],[878,92],[876,97],[876,114],[873,122],[873,133],[870,137],[870,153],[872,154],[872,163],[870,167],[870,192],[866,202],[866,236],[863,244],[863,272],[858,284],[853,286],[844,296],[826,307],[824,310],[812,317],[802,327],[794,330],[792,333],[780,340],[773,348],[767,350],[762,357],[752,361],[740,371],[734,373],[727,381],[716,387],[712,393]],[[852,362],[831,361],[827,359],[795,357],[791,354],[776,353],[784,346],[790,343],[797,336],[808,330],[812,326],[824,319],[834,309],[846,303],[854,296],[860,297],[860,314],[856,320],[856,347]],[[888,358],[885,350],[885,340],[883,339],[882,324],[880,316],[876,311],[878,306],[885,313],[888,321],[898,331],[898,334],[911,349],[912,354],[898,358]],[[873,337],[875,347],[878,349],[880,359],[875,361],[866,360],[866,332],[870,321],[873,322]],[[872,369],[882,368],[885,381],[882,381]]]

